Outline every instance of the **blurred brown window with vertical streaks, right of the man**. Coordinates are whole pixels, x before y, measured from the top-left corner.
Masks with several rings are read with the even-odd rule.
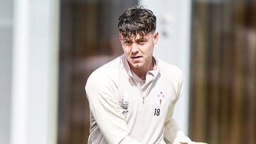
[[[190,135],[256,143],[256,2],[193,1]]]

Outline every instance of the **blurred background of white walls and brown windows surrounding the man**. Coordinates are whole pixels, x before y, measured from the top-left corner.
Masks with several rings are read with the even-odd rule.
[[[0,143],[87,143],[87,77],[122,55],[119,15],[140,5],[157,17],[154,55],[184,74],[181,129],[255,144],[255,0],[0,0]]]

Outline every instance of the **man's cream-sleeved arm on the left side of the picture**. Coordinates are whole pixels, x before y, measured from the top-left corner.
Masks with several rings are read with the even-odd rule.
[[[87,80],[85,91],[92,115],[107,143],[137,143],[129,137],[117,87],[112,79],[102,74],[92,74]]]

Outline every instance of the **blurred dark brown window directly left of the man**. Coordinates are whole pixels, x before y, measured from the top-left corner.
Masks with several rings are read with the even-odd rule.
[[[87,143],[85,83],[97,67],[122,54],[119,15],[137,1],[61,0],[58,143]]]

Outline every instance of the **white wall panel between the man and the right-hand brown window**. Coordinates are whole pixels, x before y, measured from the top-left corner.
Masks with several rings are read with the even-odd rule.
[[[156,29],[160,37],[154,55],[183,71],[184,89],[176,104],[174,118],[188,134],[191,0],[140,0],[139,5],[146,5],[157,17]]]

